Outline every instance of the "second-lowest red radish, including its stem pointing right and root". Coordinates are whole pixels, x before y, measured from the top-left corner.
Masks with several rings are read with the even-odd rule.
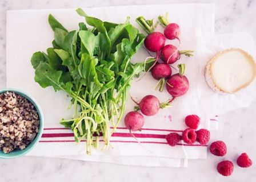
[[[133,99],[133,98],[132,98]],[[133,100],[134,101],[134,100]],[[161,108],[165,108],[169,105],[169,101],[160,103],[158,98],[152,95],[147,95],[142,98],[141,102],[137,103],[134,101],[135,104],[138,106],[135,106],[135,109],[140,109],[142,114],[146,116],[155,115],[158,113],[158,110]]]

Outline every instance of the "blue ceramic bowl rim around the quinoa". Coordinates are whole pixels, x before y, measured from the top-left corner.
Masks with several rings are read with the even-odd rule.
[[[41,138],[43,133],[43,113],[37,101],[35,101],[33,97],[29,96],[29,94],[13,88],[0,89],[0,94],[5,93],[7,91],[14,92],[18,95],[25,97],[35,106],[35,109],[37,109],[37,112],[39,115],[39,131],[37,136],[34,138],[34,140],[29,145],[27,145],[26,148],[24,148],[23,150],[13,150],[8,154],[5,154],[3,153],[3,151],[0,151],[0,159],[13,159],[13,158],[18,158],[19,156],[27,154],[27,152],[31,151],[32,148],[34,148],[35,145],[39,142],[39,139]]]

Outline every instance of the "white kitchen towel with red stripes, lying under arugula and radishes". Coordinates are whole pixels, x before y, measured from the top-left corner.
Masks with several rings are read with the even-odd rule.
[[[187,145],[180,143],[177,147],[170,147],[166,144],[164,136],[170,131],[181,133],[185,129],[183,118],[187,114],[201,115],[202,122],[200,127],[209,126],[210,117],[205,113],[201,114],[199,104],[198,80],[203,79],[199,75],[199,61],[202,39],[210,39],[214,35],[214,5],[200,4],[175,4],[175,5],[149,5],[149,6],[121,6],[121,7],[100,7],[93,9],[84,9],[87,14],[97,16],[108,21],[124,22],[126,16],[131,17],[131,22],[135,25],[135,18],[139,15],[144,15],[147,19],[157,18],[158,15],[169,12],[170,22],[176,22],[181,26],[182,45],[180,49],[193,49],[194,56],[187,58],[182,57],[179,63],[186,63],[186,76],[190,80],[189,92],[183,97],[177,98],[173,103],[172,108],[167,108],[159,111],[154,117],[146,117],[144,129],[141,132],[135,133],[137,138],[142,142],[144,147],[140,146],[134,138],[128,134],[124,125],[121,122],[109,150],[103,152],[93,150],[93,155],[99,161],[103,161],[104,156],[118,156],[116,159],[133,158],[139,156],[141,162],[130,163],[141,166],[186,166],[181,164],[187,162],[187,159],[205,159],[207,147],[201,146],[198,143]],[[182,14],[180,13],[182,12]],[[7,12],[7,86],[22,89],[31,94],[41,105],[45,115],[45,135],[41,139],[45,142],[40,142],[28,155],[34,156],[66,156],[66,155],[82,155],[85,154],[85,142],[75,144],[73,142],[72,133],[70,130],[63,129],[58,124],[61,118],[70,118],[71,110],[67,110],[69,106],[69,98],[63,92],[55,93],[52,88],[41,88],[34,82],[34,70],[30,64],[30,58],[35,51],[45,51],[51,46],[53,40],[53,32],[47,23],[47,16],[53,14],[55,18],[63,24],[67,30],[78,28],[78,23],[84,21],[81,16],[75,13],[75,10],[20,10]],[[17,31],[17,27],[19,30]],[[158,30],[163,31],[163,28],[158,27]],[[167,43],[170,43],[167,42]],[[177,44],[173,41],[171,43]],[[14,52],[15,50],[15,52]],[[133,61],[144,61],[147,57],[145,50],[141,49],[135,55]],[[174,71],[175,72],[175,71]],[[154,90],[157,83],[150,74],[147,74],[141,81],[134,80],[130,94],[135,99],[140,100],[146,94],[154,94],[161,101],[166,101],[170,98],[167,92],[159,93]],[[132,110],[134,103],[129,100],[126,105],[126,113]],[[49,129],[49,130],[47,130]],[[53,135],[54,140],[68,140],[67,142],[50,142],[49,134],[56,134],[57,131],[62,135]],[[126,137],[123,137],[124,133]],[[48,135],[47,135],[48,134]],[[63,137],[65,134],[65,138]],[[146,135],[147,138],[142,137]],[[71,141],[70,141],[71,140]],[[145,156],[145,158],[143,158]],[[152,160],[149,160],[149,157]],[[157,156],[151,158],[151,156]],[[81,160],[85,158],[81,157]],[[87,157],[86,157],[87,158]],[[107,158],[107,157],[106,157]],[[125,160],[122,158],[122,161]],[[170,158],[173,162],[165,160]],[[114,159],[114,158],[111,158]],[[135,158],[134,158],[135,159]],[[177,159],[177,160],[176,160]],[[89,160],[89,159],[88,159]],[[91,158],[91,160],[93,160]],[[107,159],[104,159],[107,160]],[[109,160],[111,162],[111,160]],[[112,160],[114,161],[114,160]],[[170,163],[169,163],[170,162]],[[182,163],[183,163],[182,162]],[[118,163],[118,162],[117,162]],[[121,162],[120,160],[120,163]],[[126,162],[129,164],[129,162]],[[179,165],[178,165],[179,164]]]

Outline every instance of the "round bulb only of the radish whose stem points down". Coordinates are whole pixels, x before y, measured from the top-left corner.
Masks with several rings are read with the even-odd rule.
[[[170,77],[171,76],[171,68],[168,64],[165,64],[165,63],[156,64],[151,69],[151,75],[153,76],[153,78],[155,78],[155,80]]]

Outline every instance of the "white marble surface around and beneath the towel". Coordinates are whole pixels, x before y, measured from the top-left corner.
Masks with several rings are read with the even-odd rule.
[[[6,10],[55,9],[154,3],[215,3],[216,34],[247,31],[256,41],[256,0],[137,0],[137,1],[70,1],[70,0],[0,0],[0,88],[5,87]],[[17,27],[18,32],[18,27]],[[21,35],[22,36],[22,35]],[[15,53],[15,50],[14,50]],[[237,155],[247,152],[256,161],[256,101],[246,108],[219,117],[219,130],[211,132],[211,140],[224,140],[228,154],[219,158],[209,155],[207,160],[189,162],[188,168],[147,168],[93,163],[75,160],[23,157],[0,160],[0,181],[256,181],[255,164],[251,168],[239,168],[223,177],[215,167],[223,159],[235,162]],[[237,127],[241,125],[241,127]]]

